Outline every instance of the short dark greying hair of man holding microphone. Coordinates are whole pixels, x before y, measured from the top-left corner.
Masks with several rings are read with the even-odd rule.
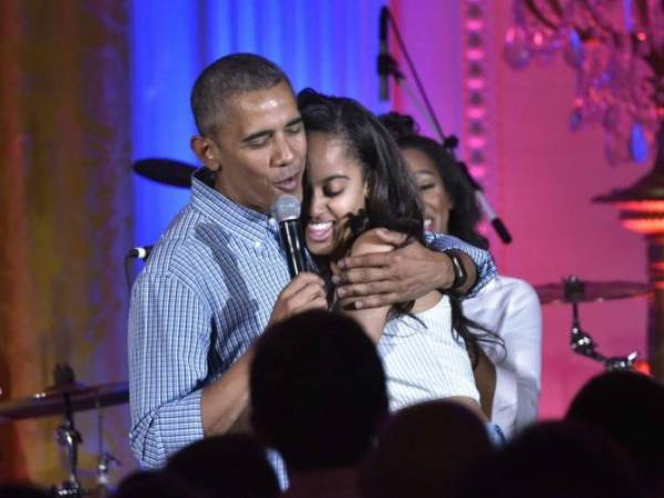
[[[204,136],[215,134],[229,98],[268,90],[282,81],[291,86],[281,68],[252,53],[234,53],[212,62],[198,75],[191,90],[191,112],[198,133]]]

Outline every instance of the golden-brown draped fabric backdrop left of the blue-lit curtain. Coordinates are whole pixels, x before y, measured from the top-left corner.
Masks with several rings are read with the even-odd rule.
[[[126,378],[123,255],[131,243],[126,3],[0,2],[0,400]],[[95,464],[93,413],[77,415]],[[0,480],[64,478],[58,417],[0,426]],[[127,409],[106,413],[129,465]],[[125,448],[125,449],[122,449]],[[83,476],[90,471],[83,471]]]

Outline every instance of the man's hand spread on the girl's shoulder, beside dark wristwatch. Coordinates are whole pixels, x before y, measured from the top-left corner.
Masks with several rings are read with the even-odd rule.
[[[402,245],[406,236],[385,229],[372,230],[377,238],[393,247]],[[461,292],[475,283],[477,277],[470,258],[461,256],[468,272],[468,282]],[[445,289],[454,281],[452,260],[445,253],[432,251],[417,241],[391,252],[351,256],[339,261],[333,277],[339,286],[336,295],[355,299],[356,308],[377,308],[421,298],[434,289]]]

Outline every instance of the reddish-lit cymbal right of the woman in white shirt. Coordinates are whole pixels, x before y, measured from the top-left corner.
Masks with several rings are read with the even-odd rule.
[[[621,280],[590,282],[570,278],[562,282],[535,286],[535,291],[542,304],[561,304],[635,298],[650,293],[651,288],[647,283],[641,282]]]

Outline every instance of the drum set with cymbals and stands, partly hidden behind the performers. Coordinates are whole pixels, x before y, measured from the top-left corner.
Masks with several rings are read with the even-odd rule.
[[[134,170],[162,184],[189,187],[195,168],[172,159],[145,159],[135,163]],[[600,362],[606,370],[632,370],[634,367],[636,352],[625,356],[605,356],[600,353],[598,343],[581,328],[579,305],[646,295],[651,292],[647,284],[624,281],[590,282],[572,276],[561,282],[536,286],[535,290],[542,304],[571,304],[570,346],[574,353]],[[53,385],[50,387],[24,398],[2,401],[0,397],[0,424],[25,418],[61,416],[62,423],[55,428],[55,440],[65,455],[66,477],[51,488],[52,496],[110,496],[108,471],[112,465],[120,463],[113,455],[104,450],[103,408],[127,403],[127,384],[81,384],[75,381],[73,370],[66,364],[56,365],[53,381]],[[79,446],[83,439],[74,424],[76,412],[90,409],[97,412],[98,429],[98,457],[94,490],[83,488],[79,479]]]

